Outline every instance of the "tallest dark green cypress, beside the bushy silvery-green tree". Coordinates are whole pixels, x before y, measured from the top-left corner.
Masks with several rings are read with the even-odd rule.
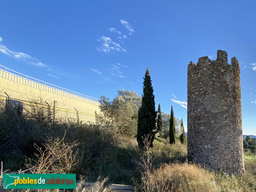
[[[157,111],[155,108],[155,95],[153,94],[153,87],[151,84],[151,78],[149,70],[147,68],[145,77],[143,78],[143,96],[141,107],[138,112],[138,124],[137,124],[137,142],[140,148],[144,147],[142,137],[149,137],[150,147],[153,147],[153,140],[156,133],[156,116]]]

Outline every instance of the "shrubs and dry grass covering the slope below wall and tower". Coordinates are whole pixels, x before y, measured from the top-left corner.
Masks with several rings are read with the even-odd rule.
[[[116,103],[123,103],[122,98],[118,100]],[[155,137],[153,148],[141,150],[134,134],[127,132],[127,124],[136,128],[134,119],[123,118],[125,124],[106,119],[101,125],[73,121],[53,124],[38,113],[31,112],[28,117],[1,108],[2,168],[20,173],[76,173],[77,179],[97,181],[94,191],[102,190],[104,182],[134,185],[135,191],[256,191],[251,149],[244,153],[245,176],[213,172],[188,163],[187,146],[179,140],[170,144],[164,135]]]

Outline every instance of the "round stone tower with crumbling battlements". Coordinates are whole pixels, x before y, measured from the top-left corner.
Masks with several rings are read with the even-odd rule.
[[[188,65],[188,160],[244,174],[240,68],[225,51]]]

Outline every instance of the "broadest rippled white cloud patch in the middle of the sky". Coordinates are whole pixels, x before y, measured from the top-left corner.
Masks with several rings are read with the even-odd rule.
[[[96,47],[99,52],[110,53],[110,52],[127,52],[120,44],[112,41],[111,38],[106,36],[100,37],[101,46]]]

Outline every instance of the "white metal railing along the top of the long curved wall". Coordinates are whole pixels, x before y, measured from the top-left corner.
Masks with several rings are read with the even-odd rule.
[[[66,93],[70,93],[70,94],[73,94],[73,95],[76,95],[76,96],[79,96],[79,97],[83,97],[83,98],[85,98],[85,99],[89,99],[89,100],[93,100],[93,101],[99,102],[99,99],[96,99],[96,98],[94,98],[94,97],[90,97],[90,96],[84,95],[84,94],[82,94],[82,93],[78,93],[78,92],[75,92],[75,91],[71,91],[71,90],[69,90],[69,89],[65,89],[65,88],[63,88],[63,87],[60,87],[60,86],[57,86],[57,85],[54,85],[54,84],[50,84],[50,83],[47,83],[47,82],[44,82],[44,81],[41,81],[41,80],[39,80],[39,79],[30,77],[30,76],[24,75],[24,74],[22,74],[22,73],[19,73],[19,72],[17,72],[17,71],[14,71],[14,70],[12,70],[12,69],[6,68],[6,67],[4,67],[3,65],[0,65],[0,69],[2,69],[3,71],[5,71],[5,72],[7,72],[7,73],[10,73],[10,74],[12,74],[12,75],[14,75],[14,76],[18,76],[18,77],[21,77],[21,78],[23,78],[23,79],[27,79],[27,80],[32,81],[32,82],[35,82],[35,83],[38,83],[38,84],[41,84],[41,85],[45,85],[45,86],[47,86],[47,87],[51,87],[51,88],[53,88],[53,89],[57,89],[57,90],[60,90],[60,91],[66,92]],[[9,70],[9,71],[7,71],[7,70]],[[16,73],[16,74],[14,74],[14,73],[12,73],[12,72],[10,72],[10,71],[12,71],[12,72],[14,72],[14,73]],[[19,74],[19,75],[17,75],[17,74]]]

